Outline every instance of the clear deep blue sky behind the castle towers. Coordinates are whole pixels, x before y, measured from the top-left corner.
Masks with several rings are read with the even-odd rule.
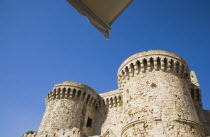
[[[117,89],[129,56],[166,50],[195,70],[210,110],[210,1],[135,0],[105,38],[65,0],[0,0],[0,136],[37,130],[54,84]]]

